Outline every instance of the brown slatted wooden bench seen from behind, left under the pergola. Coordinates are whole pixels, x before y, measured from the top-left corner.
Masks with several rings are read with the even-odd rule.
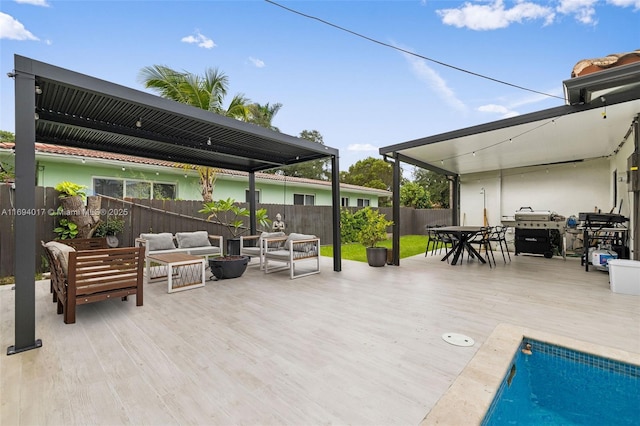
[[[76,305],[135,295],[136,306],[142,306],[144,247],[76,251],[55,241],[41,244],[65,324],[76,322]]]

